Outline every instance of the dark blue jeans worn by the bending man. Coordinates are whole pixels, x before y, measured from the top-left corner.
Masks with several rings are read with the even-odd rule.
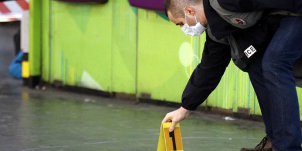
[[[273,149],[302,151],[299,102],[292,75],[292,66],[302,55],[302,17],[284,17],[267,50],[257,53],[248,74]]]

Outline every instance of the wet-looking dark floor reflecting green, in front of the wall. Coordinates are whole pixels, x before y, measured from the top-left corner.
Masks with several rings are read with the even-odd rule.
[[[22,87],[7,70],[14,29],[0,26],[0,151],[156,150],[160,122],[174,108]],[[185,151],[239,151],[265,135],[262,123],[199,112],[181,130]]]

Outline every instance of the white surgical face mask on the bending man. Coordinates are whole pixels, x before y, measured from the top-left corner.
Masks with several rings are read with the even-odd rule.
[[[185,18],[186,18],[186,24],[182,26],[182,31],[186,34],[186,35],[190,35],[190,36],[198,36],[201,35],[206,28],[204,26],[202,26],[200,24],[200,22],[197,22],[196,16],[194,15],[195,20],[196,20],[196,25],[195,26],[189,26],[187,24],[187,17],[186,17],[186,12],[185,12]]]

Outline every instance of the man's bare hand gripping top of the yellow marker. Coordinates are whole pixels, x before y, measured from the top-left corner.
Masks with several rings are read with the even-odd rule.
[[[186,119],[186,117],[189,115],[189,113],[190,113],[189,110],[187,110],[183,107],[180,107],[179,109],[168,113],[166,115],[166,117],[163,119],[162,123],[172,122],[172,125],[170,127],[170,132],[172,132],[175,128],[175,125],[178,122]]]

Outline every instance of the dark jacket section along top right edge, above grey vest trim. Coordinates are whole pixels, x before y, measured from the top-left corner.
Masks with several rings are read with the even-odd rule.
[[[231,12],[252,12],[266,9],[302,13],[301,0],[218,0],[219,5]]]

